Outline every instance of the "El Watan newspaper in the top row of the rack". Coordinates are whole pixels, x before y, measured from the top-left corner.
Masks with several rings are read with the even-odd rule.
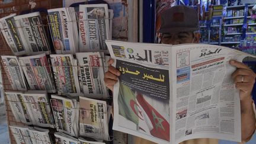
[[[48,21],[57,54],[78,52],[79,39],[73,7],[48,9]]]

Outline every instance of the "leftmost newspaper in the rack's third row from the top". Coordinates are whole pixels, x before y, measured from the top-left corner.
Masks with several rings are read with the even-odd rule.
[[[5,92],[16,121],[55,127],[46,91]]]

